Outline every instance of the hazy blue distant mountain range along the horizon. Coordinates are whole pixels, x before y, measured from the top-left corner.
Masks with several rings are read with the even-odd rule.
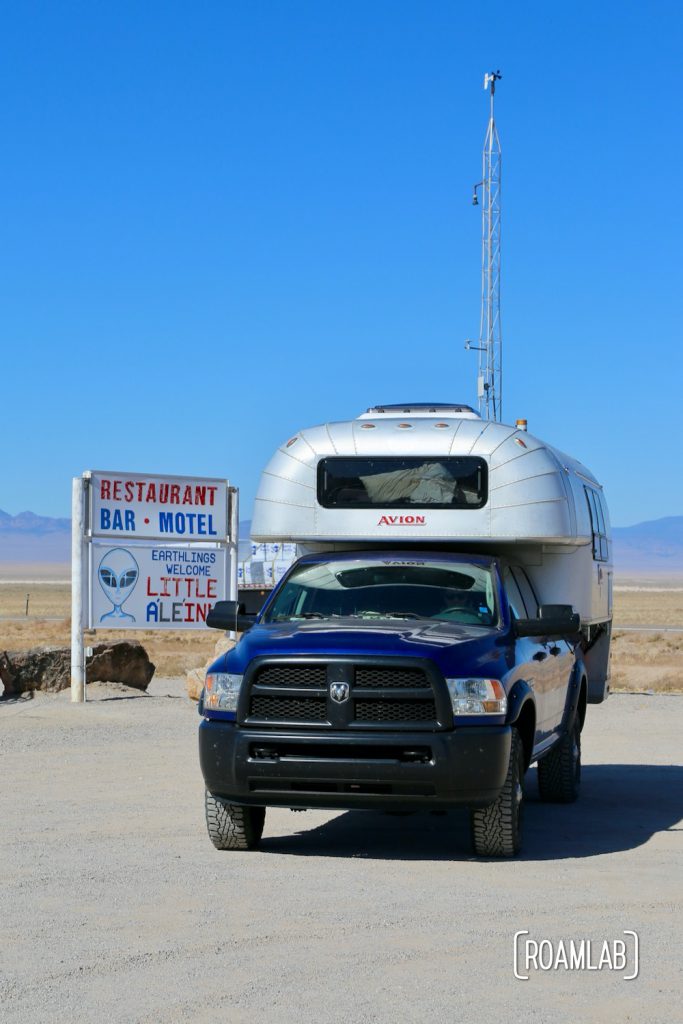
[[[244,542],[251,521],[240,524]],[[683,572],[683,516],[652,519],[635,526],[615,526],[614,567],[618,572]],[[0,562],[68,562],[71,559],[71,519],[53,519],[0,510]]]

